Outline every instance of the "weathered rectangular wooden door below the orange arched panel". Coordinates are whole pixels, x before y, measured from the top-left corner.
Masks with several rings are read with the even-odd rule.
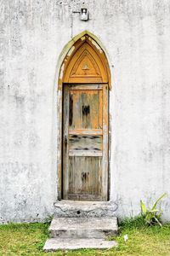
[[[108,84],[64,84],[63,199],[108,199]]]

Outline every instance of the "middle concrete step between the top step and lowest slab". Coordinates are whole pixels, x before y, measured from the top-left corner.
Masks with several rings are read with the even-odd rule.
[[[105,238],[117,234],[117,219],[112,218],[54,218],[50,236],[55,238]]]

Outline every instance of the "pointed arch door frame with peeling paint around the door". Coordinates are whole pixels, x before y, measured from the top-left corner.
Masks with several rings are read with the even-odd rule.
[[[100,83],[106,83],[109,85],[109,90],[111,90],[111,69],[108,62],[108,57],[106,55],[106,51],[104,50],[104,46],[101,44],[98,38],[96,38],[92,33],[88,31],[84,31],[77,35],[75,38],[72,38],[71,41],[65,45],[64,49],[62,50],[61,54],[59,55],[58,61],[58,72],[56,75],[55,83],[57,84],[57,192],[58,192],[58,200],[62,199],[62,114],[63,114],[63,84],[65,83],[65,73],[67,67],[71,61],[72,56],[75,54],[77,49],[84,44],[85,41],[88,41],[99,54],[100,60],[102,61],[105,67],[105,74],[102,77],[102,81]],[[67,75],[66,75],[67,76]],[[68,76],[67,76],[68,77]],[[67,81],[66,81],[67,82]],[[109,103],[109,102],[108,102]],[[110,106],[109,106],[109,114],[110,114]],[[110,132],[110,119],[109,119],[109,136]],[[109,162],[110,162],[110,155],[111,155],[111,138],[109,137]],[[108,180],[108,193],[110,198],[110,165],[109,165],[109,180]]]

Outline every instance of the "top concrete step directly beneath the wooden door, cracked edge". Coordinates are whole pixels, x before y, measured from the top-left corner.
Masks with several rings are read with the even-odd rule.
[[[116,216],[114,201],[57,201],[54,216],[61,218],[94,218]]]

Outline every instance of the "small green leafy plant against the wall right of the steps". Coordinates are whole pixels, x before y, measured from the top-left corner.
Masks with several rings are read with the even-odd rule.
[[[167,194],[162,194],[154,205],[147,209],[144,205],[144,202],[140,200],[141,215],[144,217],[145,223],[149,225],[159,224],[161,226],[161,209],[157,209],[157,204],[165,197]]]

